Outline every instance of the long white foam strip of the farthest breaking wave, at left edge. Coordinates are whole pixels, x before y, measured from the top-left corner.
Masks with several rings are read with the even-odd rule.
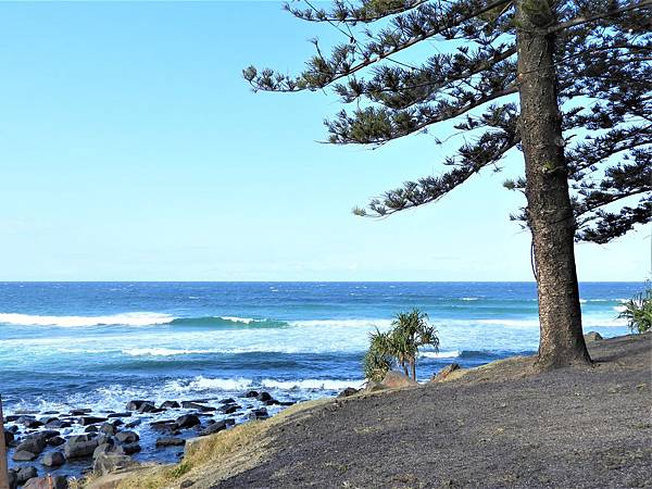
[[[174,319],[174,316],[171,316],[170,314],[151,312],[133,312],[108,316],[40,316],[32,314],[0,313],[0,323],[24,326],[150,326],[172,323]]]

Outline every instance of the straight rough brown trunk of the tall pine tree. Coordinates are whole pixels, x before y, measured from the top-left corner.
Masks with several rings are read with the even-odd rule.
[[[554,14],[546,0],[517,0],[519,131],[525,154],[528,225],[539,294],[540,368],[590,363],[575,269],[575,220],[568,193],[561,112],[546,34]]]

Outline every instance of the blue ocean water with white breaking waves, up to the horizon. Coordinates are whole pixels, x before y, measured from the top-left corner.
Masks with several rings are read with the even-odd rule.
[[[581,284],[585,330],[627,333],[618,308],[641,289]],[[368,333],[412,308],[441,339],[422,379],[537,349],[531,283],[1,283],[0,393],[8,412],[330,396],[362,383]]]

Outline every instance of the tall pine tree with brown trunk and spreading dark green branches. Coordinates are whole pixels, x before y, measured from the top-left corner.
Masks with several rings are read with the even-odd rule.
[[[448,170],[372,200],[364,216],[435,202],[521,151],[505,187],[527,205],[541,368],[590,362],[574,241],[605,243],[652,211],[652,0],[335,0],[286,5],[344,37],[296,76],[243,71],[254,90],[326,87],[353,109],[326,122],[336,145],[385,145],[454,121],[465,142]],[[418,62],[427,42],[437,50]],[[416,57],[418,58],[418,57]],[[471,141],[469,141],[471,140]]]

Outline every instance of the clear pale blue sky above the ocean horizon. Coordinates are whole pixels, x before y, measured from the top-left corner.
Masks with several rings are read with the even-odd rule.
[[[501,185],[518,153],[437,203],[352,215],[442,172],[450,126],[321,143],[335,95],[241,77],[338,39],[280,5],[0,2],[0,280],[532,280]],[[643,280],[650,246],[650,227],[579,244],[579,279]]]

